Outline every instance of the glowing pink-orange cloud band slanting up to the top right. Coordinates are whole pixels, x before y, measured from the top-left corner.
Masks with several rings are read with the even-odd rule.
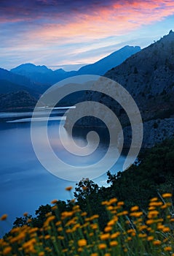
[[[32,31],[30,37],[56,41],[56,44],[90,42],[91,39],[125,34],[142,25],[162,20],[174,13],[173,1],[139,1],[113,4],[92,14],[81,14],[66,24],[45,24]]]

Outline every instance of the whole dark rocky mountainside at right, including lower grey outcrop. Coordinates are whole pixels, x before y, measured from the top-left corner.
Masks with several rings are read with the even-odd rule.
[[[143,146],[151,147],[174,136],[174,32],[135,53],[104,75],[120,83],[135,99],[143,118]],[[130,146],[132,130],[122,106],[105,94],[91,92],[86,100],[108,105],[124,127],[125,146]],[[131,106],[130,106],[131,108]],[[83,110],[82,110],[83,112]],[[73,116],[75,113],[72,110]],[[83,114],[82,114],[83,116]],[[73,118],[74,119],[74,118]],[[95,127],[98,121],[81,119],[77,126]],[[66,120],[71,123],[71,118]]]

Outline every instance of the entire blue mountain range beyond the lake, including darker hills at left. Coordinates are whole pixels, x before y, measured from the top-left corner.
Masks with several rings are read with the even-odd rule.
[[[124,48],[111,53],[109,56],[100,59],[94,64],[82,67],[78,71],[66,72],[63,69],[57,69],[53,71],[44,65],[36,66],[31,63],[21,64],[20,66],[15,67],[10,71],[0,68],[0,94],[8,94],[7,97],[3,97],[4,103],[1,104],[1,110],[9,108],[9,102],[12,103],[12,106],[17,106],[18,98],[17,102],[14,103],[15,92],[28,92],[31,97],[27,96],[27,98],[32,99],[33,97],[31,103],[30,100],[27,100],[28,106],[33,107],[33,102],[36,102],[36,99],[38,99],[39,96],[41,96],[41,94],[54,83],[75,75],[102,75],[111,67],[115,67],[116,65],[121,64],[129,56],[137,53],[140,50],[141,48],[138,46],[133,47],[127,45]],[[12,94],[12,100],[10,100],[10,94]],[[5,99],[8,99],[8,102],[6,102]],[[68,98],[67,100],[72,101],[71,98]],[[66,102],[63,102],[63,104],[64,103],[66,104]],[[19,106],[21,107],[21,104],[19,104]]]

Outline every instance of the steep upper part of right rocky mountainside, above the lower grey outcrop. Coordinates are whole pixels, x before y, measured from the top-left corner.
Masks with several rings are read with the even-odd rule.
[[[129,91],[143,120],[165,118],[174,110],[174,32],[106,72]]]

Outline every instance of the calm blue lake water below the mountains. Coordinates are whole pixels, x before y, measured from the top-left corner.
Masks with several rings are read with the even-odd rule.
[[[62,116],[62,114],[63,110],[56,110],[55,116],[57,117],[54,118],[53,115],[52,121],[49,121],[48,134],[56,154],[65,157],[67,153],[58,138],[58,127],[60,125],[58,116]],[[0,113],[0,118],[9,117],[12,122],[7,122],[7,119],[0,122],[0,215],[8,214],[9,221],[9,224],[5,223],[3,227],[0,227],[0,236],[11,228],[15,217],[22,216],[25,211],[33,215],[41,204],[50,203],[53,199],[70,199],[65,187],[75,187],[76,184],[74,181],[66,181],[53,176],[44,169],[36,158],[31,143],[31,113]],[[24,120],[21,120],[21,118]],[[41,126],[43,126],[43,123],[39,121],[38,127]],[[74,132],[74,138],[79,146],[87,143],[85,134],[87,134],[85,129],[77,129]],[[66,136],[66,143],[68,143],[66,130],[64,135]],[[87,165],[103,157],[108,141],[107,136],[103,136],[103,131],[100,131],[100,135],[103,139],[92,157],[76,157],[74,159],[71,155],[66,155],[67,161],[74,165]],[[124,156],[119,158],[119,161],[112,168],[112,172],[122,170],[123,162]],[[66,172],[66,170],[63,171]],[[83,174],[82,177],[84,177]],[[106,173],[104,173],[102,176],[95,178],[94,181],[100,186],[106,186],[106,179]]]

